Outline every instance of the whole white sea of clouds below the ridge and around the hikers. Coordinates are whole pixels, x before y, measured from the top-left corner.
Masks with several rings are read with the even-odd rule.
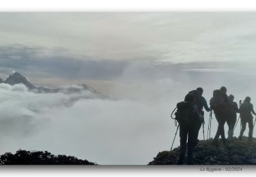
[[[0,154],[48,150],[102,165],[145,165],[158,152],[171,148],[176,127],[170,114],[188,91],[203,86],[209,103],[212,91],[225,85],[236,102],[246,96],[252,97],[252,103],[256,99],[254,75],[185,69],[150,80],[132,67],[124,72],[124,82],[133,78],[131,72],[138,73],[138,80],[130,87],[115,86],[113,95],[119,91],[119,96],[126,96],[114,100],[98,99],[91,91],[33,93],[23,84],[0,84]],[[205,113],[205,137],[208,118]],[[214,118],[211,137],[216,129]],[[227,125],[225,130],[227,135]],[[234,135],[239,131],[238,124]],[[244,135],[247,133],[248,129]],[[199,139],[203,140],[202,129]],[[177,133],[174,147],[179,143]]]

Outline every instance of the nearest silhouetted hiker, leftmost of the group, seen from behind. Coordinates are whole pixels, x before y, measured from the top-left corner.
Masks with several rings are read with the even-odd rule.
[[[188,146],[187,164],[193,164],[193,150],[197,143],[197,122],[202,121],[203,117],[199,114],[199,110],[195,105],[195,97],[187,94],[184,101],[177,103],[177,120],[180,124],[180,158],[177,164],[182,165],[186,154],[186,146]],[[188,139],[188,144],[186,143]]]

